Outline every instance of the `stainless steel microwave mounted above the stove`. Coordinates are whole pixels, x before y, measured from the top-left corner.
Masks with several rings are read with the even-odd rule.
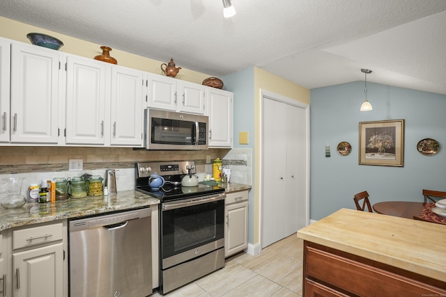
[[[146,109],[146,150],[207,150],[208,125],[207,115]]]

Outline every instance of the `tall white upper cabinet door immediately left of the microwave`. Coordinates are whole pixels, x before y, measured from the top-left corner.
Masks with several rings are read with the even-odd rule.
[[[143,145],[143,84],[141,71],[112,67],[111,145]]]

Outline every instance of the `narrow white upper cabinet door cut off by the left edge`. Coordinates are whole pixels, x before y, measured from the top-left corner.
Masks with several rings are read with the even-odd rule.
[[[9,142],[10,42],[0,40],[0,143]]]

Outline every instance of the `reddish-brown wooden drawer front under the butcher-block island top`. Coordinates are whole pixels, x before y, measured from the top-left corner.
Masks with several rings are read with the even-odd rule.
[[[307,278],[359,296],[442,296],[446,290],[307,246]]]

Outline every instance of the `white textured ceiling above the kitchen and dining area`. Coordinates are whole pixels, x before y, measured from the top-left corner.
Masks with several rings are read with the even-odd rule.
[[[257,66],[318,88],[446,94],[445,0],[1,0],[0,15],[220,77]]]

